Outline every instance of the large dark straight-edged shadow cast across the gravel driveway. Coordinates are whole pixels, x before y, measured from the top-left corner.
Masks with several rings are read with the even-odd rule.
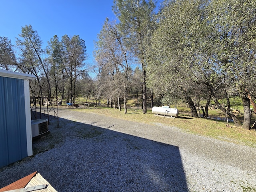
[[[0,188],[38,171],[59,192],[188,191],[177,146],[97,122],[59,124],[51,116],[50,133],[33,142],[37,154],[0,170]]]

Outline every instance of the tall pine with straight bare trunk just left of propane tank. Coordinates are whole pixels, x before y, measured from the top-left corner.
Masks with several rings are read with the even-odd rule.
[[[153,0],[114,0],[113,11],[120,20],[120,31],[126,39],[127,47],[138,58],[143,74],[143,112],[147,112],[146,89],[146,39],[148,28],[154,13]]]

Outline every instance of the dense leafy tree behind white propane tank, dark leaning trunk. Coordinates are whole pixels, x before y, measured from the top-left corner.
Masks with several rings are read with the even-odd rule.
[[[165,103],[183,98],[194,117],[198,114],[192,98],[200,82],[194,80],[193,54],[188,51],[194,46],[191,37],[199,31],[202,9],[200,0],[165,1],[147,49],[150,87]]]

